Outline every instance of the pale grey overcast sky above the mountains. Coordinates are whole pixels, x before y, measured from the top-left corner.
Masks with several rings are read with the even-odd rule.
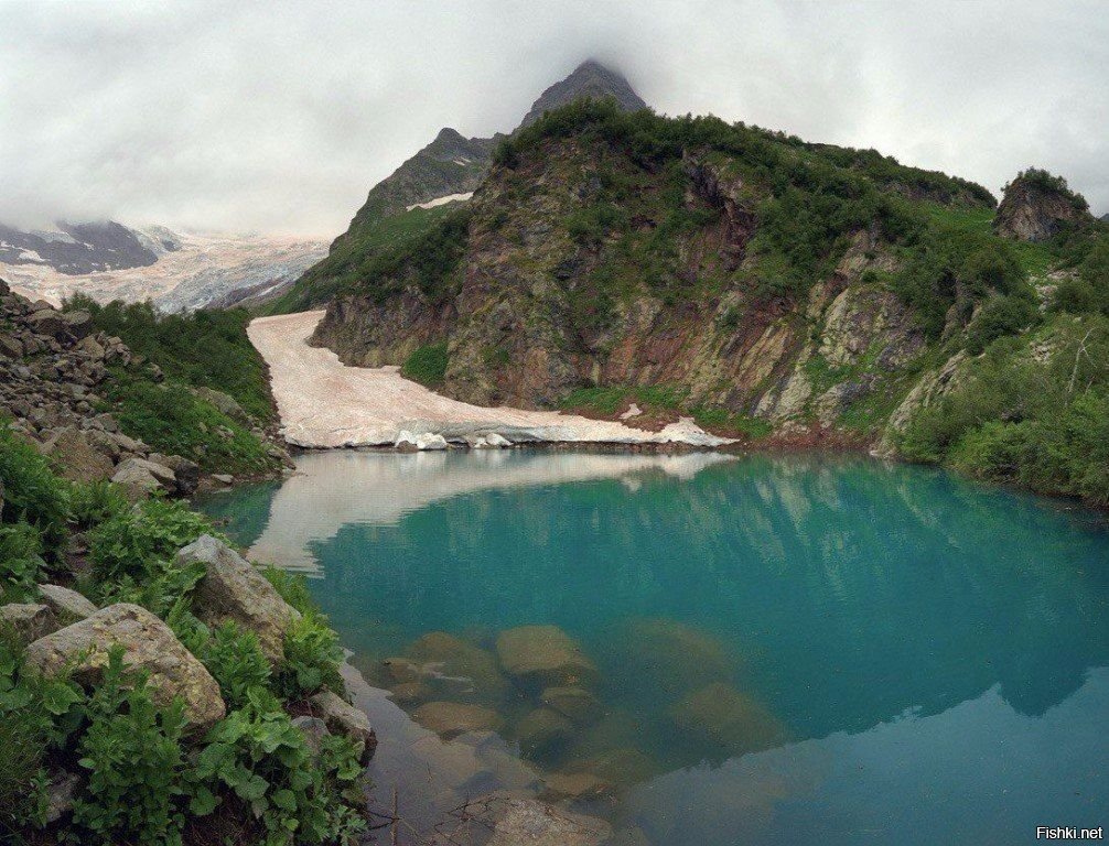
[[[873,146],[1109,211],[1109,4],[8,2],[0,220],[334,236],[444,125],[513,128],[596,57],[657,110]]]

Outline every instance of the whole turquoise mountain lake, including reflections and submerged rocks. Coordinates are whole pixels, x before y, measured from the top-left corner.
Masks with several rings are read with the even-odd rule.
[[[583,773],[576,807],[625,844],[1011,844],[1109,824],[1100,514],[844,457],[330,452],[298,469],[203,507],[255,560],[308,574],[352,662],[396,690],[359,704],[376,801],[396,788],[411,830],[489,791],[576,793]],[[506,672],[502,633],[536,624],[579,650],[569,676]],[[572,689],[570,709],[545,686]],[[406,712],[466,726],[428,702],[497,732],[440,742]]]

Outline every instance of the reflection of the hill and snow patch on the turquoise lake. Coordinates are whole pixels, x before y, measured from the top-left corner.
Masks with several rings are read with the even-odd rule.
[[[255,552],[304,563],[307,543],[314,592],[359,652],[550,622],[583,642],[610,697],[639,703],[663,694],[613,632],[679,621],[739,655],[725,681],[796,741],[995,686],[1041,715],[1109,664],[1103,528],[944,473],[796,457],[674,476],[651,470],[698,457],[308,458]]]

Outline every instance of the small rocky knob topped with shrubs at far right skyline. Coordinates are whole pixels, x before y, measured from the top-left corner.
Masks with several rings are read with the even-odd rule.
[[[1006,186],[994,231],[1019,241],[1047,241],[1066,226],[1092,220],[1086,200],[1065,179],[1029,167]]]

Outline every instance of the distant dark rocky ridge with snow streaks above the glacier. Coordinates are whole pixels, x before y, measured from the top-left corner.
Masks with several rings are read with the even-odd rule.
[[[173,233],[130,230],[114,221],[58,223],[54,230],[22,231],[0,224],[0,264],[49,267],[60,274],[152,265],[179,247]]]

